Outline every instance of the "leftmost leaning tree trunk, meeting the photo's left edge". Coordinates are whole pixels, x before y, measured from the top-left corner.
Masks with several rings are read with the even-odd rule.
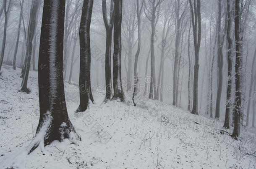
[[[4,8],[3,10],[5,13],[5,25],[3,30],[2,52],[1,52],[1,58],[0,58],[0,71],[3,64],[3,57],[5,55],[6,30],[7,30],[7,24],[8,24],[8,12],[10,10],[10,3],[11,3],[11,0],[9,1],[8,9],[6,9],[7,0],[3,0],[3,8]]]

